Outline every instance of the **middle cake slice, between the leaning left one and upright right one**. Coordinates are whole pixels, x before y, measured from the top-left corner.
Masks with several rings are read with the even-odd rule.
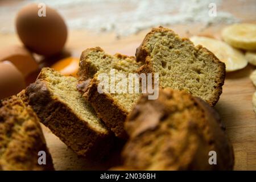
[[[136,63],[135,57],[106,54],[100,47],[89,48],[82,52],[79,68],[79,84],[77,88],[84,93],[84,97],[92,104],[98,117],[104,121],[118,138],[126,138],[123,130],[123,122],[132,106],[138,100],[139,93],[99,93],[98,75],[105,73],[110,76],[110,70],[114,69],[115,74],[135,73],[141,63]],[[114,83],[117,85],[117,81]],[[114,85],[114,86],[115,86]],[[108,90],[109,91],[109,90]],[[126,90],[127,91],[127,90]]]

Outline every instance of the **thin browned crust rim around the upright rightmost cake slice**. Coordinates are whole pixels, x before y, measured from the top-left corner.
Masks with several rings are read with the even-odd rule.
[[[174,33],[174,31],[172,31],[168,28],[164,28],[164,27],[152,28],[152,30],[150,32],[148,32],[148,34],[144,38],[141,45],[137,48],[136,53],[135,53],[136,61],[142,61],[143,63],[145,63],[145,65],[143,65],[143,67],[141,68],[140,72],[151,71],[152,73],[154,73],[154,70],[152,68],[151,58],[150,58],[151,51],[146,47],[146,45],[147,45],[147,42],[150,39],[150,37],[153,36],[156,32],[173,32]],[[181,40],[184,42],[192,43],[187,38],[182,38]],[[207,100],[207,102],[211,106],[214,106],[218,102],[220,95],[222,93],[222,85],[224,85],[225,73],[226,73],[225,72],[225,64],[222,63],[220,60],[218,60],[218,58],[212,52],[210,52],[207,48],[204,48],[200,45],[195,48],[196,48],[197,52],[203,51],[203,52],[207,53],[207,55],[211,58],[211,60],[214,61],[214,63],[218,64],[219,75],[215,80],[215,82],[217,83],[217,86],[215,88],[215,92],[213,93],[213,96],[209,100]],[[144,71],[143,71],[143,69],[144,69]]]

